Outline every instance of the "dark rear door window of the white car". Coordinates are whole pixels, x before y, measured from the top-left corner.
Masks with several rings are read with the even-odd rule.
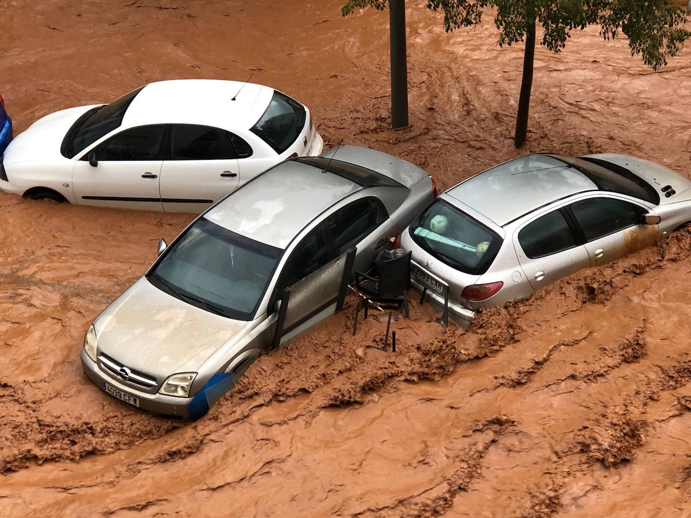
[[[173,124],[170,160],[230,160],[235,158],[218,128]]]

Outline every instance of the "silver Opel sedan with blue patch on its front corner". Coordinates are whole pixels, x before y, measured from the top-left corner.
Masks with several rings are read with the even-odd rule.
[[[262,352],[334,314],[348,256],[368,269],[431,200],[425,171],[371,149],[282,162],[161,242],[89,327],[84,372],[130,405],[197,419]]]

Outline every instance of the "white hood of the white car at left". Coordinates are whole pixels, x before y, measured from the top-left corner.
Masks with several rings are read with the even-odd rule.
[[[60,146],[68,129],[79,117],[95,106],[78,106],[57,111],[38,119],[19,133],[5,151],[6,166],[29,160],[55,160],[62,157]]]

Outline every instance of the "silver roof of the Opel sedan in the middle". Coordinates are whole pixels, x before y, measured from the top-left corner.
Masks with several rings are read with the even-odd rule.
[[[285,249],[316,216],[363,187],[288,160],[209,209],[205,218],[241,236]]]

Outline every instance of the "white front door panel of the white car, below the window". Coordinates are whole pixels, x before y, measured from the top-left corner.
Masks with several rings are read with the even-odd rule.
[[[162,164],[162,160],[104,160],[92,167],[84,160],[77,160],[72,175],[75,202],[94,207],[162,211],[158,188]],[[142,178],[147,173],[156,178]]]

